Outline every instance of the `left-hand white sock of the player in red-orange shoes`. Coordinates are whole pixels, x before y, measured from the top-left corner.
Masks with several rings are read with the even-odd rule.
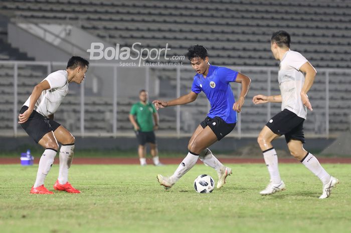
[[[38,172],[37,172],[37,179],[33,185],[33,187],[39,187],[40,185],[44,184],[45,177],[48,175],[51,166],[54,163],[55,156],[57,151],[54,149],[47,148],[44,150],[44,153],[39,161]]]

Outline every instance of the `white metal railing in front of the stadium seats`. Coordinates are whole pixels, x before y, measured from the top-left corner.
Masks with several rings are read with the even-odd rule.
[[[47,69],[47,74],[50,74],[54,69],[53,67],[56,68],[61,68],[64,69],[66,67],[66,63],[63,62],[31,62],[31,61],[0,61],[0,66],[3,65],[11,65],[13,66],[13,130],[12,132],[2,132],[1,134],[7,135],[7,136],[22,136],[25,135],[24,131],[21,130],[21,132],[18,131],[19,128],[19,124],[18,124],[18,111],[19,111],[19,98],[18,98],[18,84],[19,84],[19,66],[42,66],[42,67],[46,67]],[[132,136],[133,133],[130,130],[129,132],[126,132],[125,130],[121,130],[120,129],[120,124],[128,124],[128,122],[122,122],[121,119],[118,118],[118,114],[119,114],[119,103],[118,103],[118,99],[120,98],[119,93],[117,93],[117,86],[122,85],[122,80],[119,80],[119,69],[121,69],[121,67],[118,64],[103,64],[103,63],[91,63],[89,69],[91,68],[109,68],[113,70],[113,74],[112,74],[112,83],[111,85],[113,85],[113,91],[112,91],[112,125],[111,128],[109,129],[109,131],[104,131],[104,130],[92,130],[92,131],[87,131],[87,125],[85,124],[87,119],[86,119],[86,113],[87,110],[86,109],[86,98],[88,97],[88,94],[86,94],[85,92],[85,85],[84,82],[82,83],[82,85],[80,85],[80,93],[76,93],[76,96],[78,98],[80,98],[80,105],[79,105],[79,119],[80,119],[80,124],[79,124],[79,130],[75,131],[74,134],[76,136]],[[135,67],[123,67],[123,69],[128,68],[128,69],[135,69]],[[276,83],[276,86],[278,86],[277,81],[272,80],[272,73],[277,73],[277,67],[229,67],[233,70],[237,70],[239,72],[242,72],[243,74],[247,74],[250,72],[261,72],[262,75],[266,74],[267,80],[266,80],[266,89],[261,89],[262,92],[266,92],[267,95],[271,95],[271,88],[272,88],[272,83]],[[8,68],[9,69],[9,68]],[[138,68],[140,69],[140,68]],[[142,69],[144,69],[144,86],[142,88],[144,88],[145,90],[149,90],[150,88],[150,79],[151,78],[155,78],[155,77],[150,77],[150,69],[171,69],[173,71],[175,71],[176,77],[175,77],[175,81],[176,81],[176,85],[175,85],[175,95],[169,95],[166,96],[166,99],[172,99],[172,98],[176,98],[176,97],[180,97],[181,96],[181,88],[182,88],[182,73],[183,72],[187,72],[189,73],[189,71],[192,69],[190,66],[183,66],[183,67],[142,67]],[[57,69],[59,70],[59,69]],[[307,132],[307,136],[310,137],[329,137],[329,111],[330,111],[330,107],[329,107],[329,79],[330,79],[330,74],[331,73],[347,73],[347,74],[351,74],[351,70],[349,69],[317,69],[317,71],[319,72],[319,74],[322,74],[321,77],[323,77],[323,82],[321,82],[321,86],[325,85],[325,90],[324,90],[324,94],[325,94],[325,98],[324,100],[322,100],[322,104],[320,104],[319,107],[316,107],[315,110],[320,110],[320,114],[324,114],[325,116],[325,120],[324,122],[319,122],[320,124],[323,124],[323,129],[325,127],[324,132],[318,132],[318,133],[314,133],[314,132]],[[45,75],[47,75],[45,74]],[[89,73],[87,74],[87,76],[89,77]],[[250,75],[248,75],[250,76]],[[1,78],[1,76],[0,76]],[[44,79],[45,77],[42,77],[42,79]],[[157,78],[157,77],[156,77]],[[261,80],[262,82],[262,80]],[[253,84],[255,83],[255,79],[253,79]],[[128,89],[128,87],[123,87],[125,89]],[[239,95],[240,90],[241,90],[241,86],[237,85],[236,88],[233,89],[234,92]],[[313,90],[311,90],[313,91]],[[318,92],[320,92],[320,90],[317,90]],[[254,94],[259,94],[259,93],[252,93],[252,95]],[[9,94],[4,94],[0,92],[0,98],[4,97],[5,95],[9,95]],[[133,93],[133,95],[135,97],[135,93]],[[250,96],[251,97],[251,96]],[[128,96],[125,96],[124,98],[129,98]],[[237,122],[237,127],[235,132],[231,133],[229,136],[232,137],[255,137],[257,136],[258,132],[251,132],[251,133],[247,133],[245,131],[245,129],[247,128],[247,125],[250,123],[243,123],[243,117],[242,114],[245,114],[245,108],[254,108],[253,106],[250,107],[250,99],[246,100],[246,103],[244,106],[244,111],[243,113],[238,114],[238,122]],[[312,103],[313,104],[313,103]],[[324,105],[324,106],[323,106]],[[1,107],[3,108],[3,107]],[[63,108],[63,106],[61,106],[60,108]],[[59,108],[59,109],[60,109]],[[173,115],[174,117],[174,123],[175,123],[175,129],[170,129],[170,130],[164,130],[164,133],[162,133],[161,131],[158,133],[158,136],[177,136],[177,137],[183,137],[183,136],[189,136],[191,135],[191,132],[185,132],[184,130],[182,130],[182,119],[181,119],[181,112],[182,112],[182,108],[183,106],[177,106],[175,107],[175,114]],[[107,109],[107,107],[106,107]],[[3,109],[2,109],[3,110]],[[1,116],[2,112],[0,112],[0,116]],[[160,112],[159,114],[162,114],[162,112]],[[272,116],[272,106],[271,104],[267,104],[266,105],[266,110],[264,111],[265,116],[261,117],[261,116],[257,116],[257,118],[260,118],[262,120],[262,127],[264,126],[264,123],[270,119],[270,117]],[[203,116],[204,118],[206,117],[205,115]],[[323,119],[323,117],[321,118]],[[103,121],[103,119],[102,119]],[[122,122],[122,123],[121,123]],[[162,122],[161,122],[162,123]],[[200,123],[200,122],[199,122]],[[3,128],[4,129],[4,128]]]

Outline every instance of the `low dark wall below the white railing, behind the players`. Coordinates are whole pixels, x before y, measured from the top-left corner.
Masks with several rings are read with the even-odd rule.
[[[322,151],[328,147],[335,139],[310,138],[307,139],[306,150]],[[158,150],[187,152],[189,137],[184,138],[157,138]],[[102,137],[76,137],[76,149],[98,149],[98,150],[136,150],[137,140],[131,137],[102,138]],[[35,142],[29,137],[3,137],[0,139],[0,148],[3,151],[15,150],[19,147],[33,147]],[[235,152],[244,147],[256,147],[256,138],[223,138],[220,142],[210,146],[210,149],[220,152]],[[284,137],[273,141],[276,149],[288,151]],[[248,156],[254,156],[248,154]]]

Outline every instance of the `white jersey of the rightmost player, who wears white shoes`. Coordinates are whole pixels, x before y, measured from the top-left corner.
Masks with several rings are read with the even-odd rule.
[[[306,119],[307,108],[301,101],[301,89],[305,76],[300,68],[307,59],[295,51],[287,51],[279,65],[278,81],[282,97],[281,110],[287,109]]]

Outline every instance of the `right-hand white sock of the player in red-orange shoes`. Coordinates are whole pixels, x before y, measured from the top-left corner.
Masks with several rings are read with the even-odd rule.
[[[74,154],[73,145],[62,145],[60,149],[60,169],[59,169],[59,183],[66,184],[68,181],[68,168],[71,167]]]

